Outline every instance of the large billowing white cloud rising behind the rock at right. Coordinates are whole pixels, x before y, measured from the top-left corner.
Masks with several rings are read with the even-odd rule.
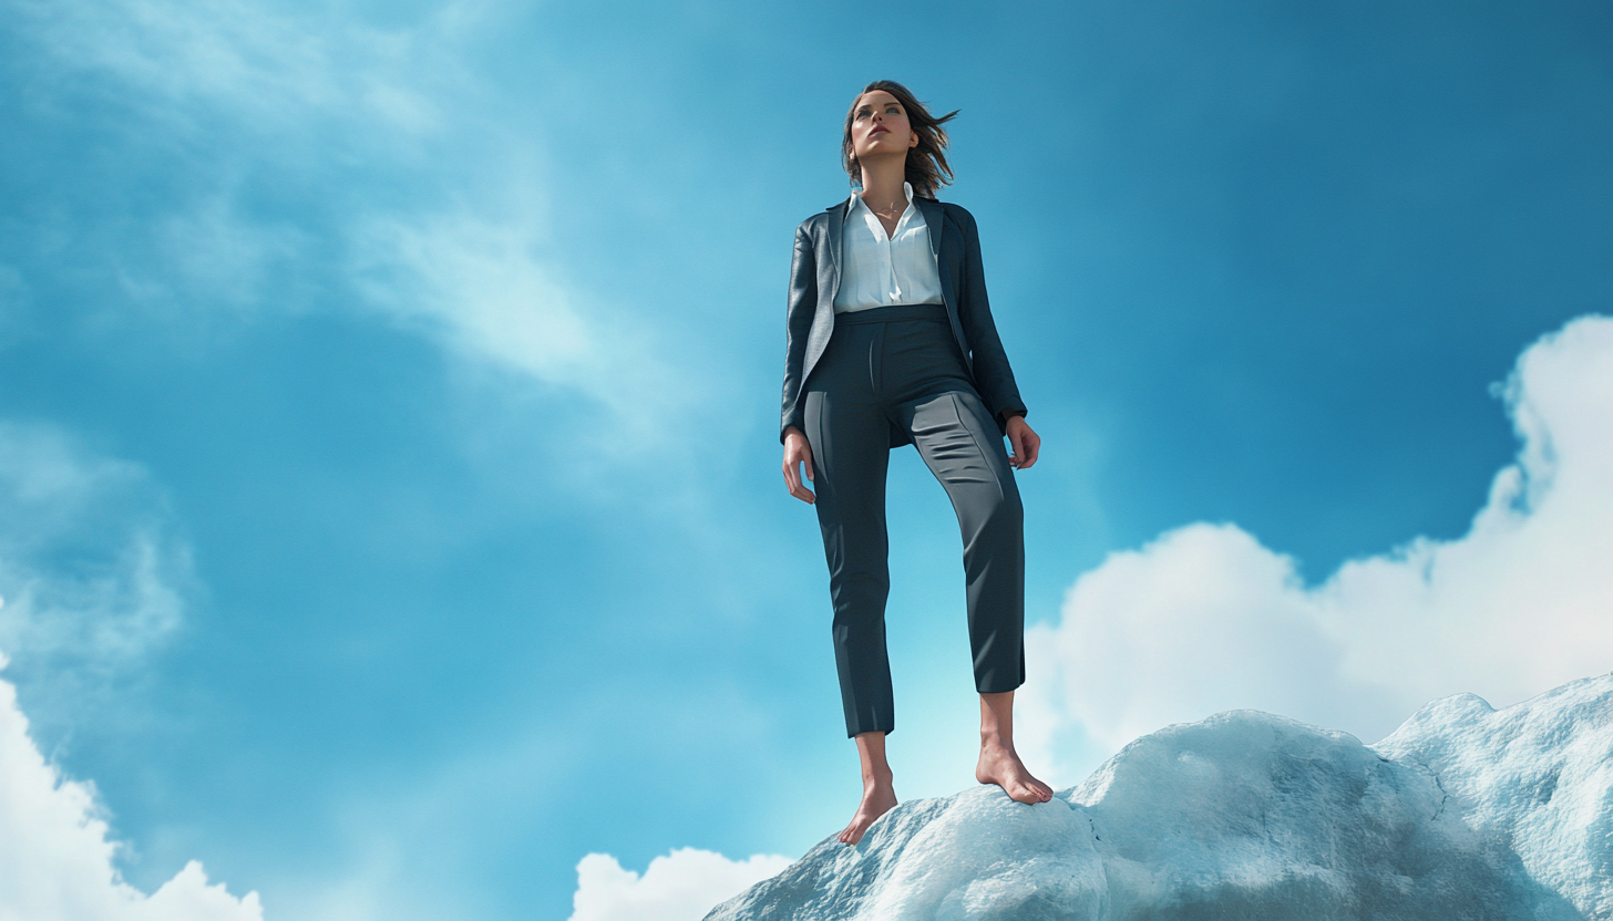
[[[1305,587],[1237,526],[1190,524],[1082,574],[1029,634],[1032,761],[1074,782],[1073,731],[1113,752],[1245,706],[1376,740],[1434,697],[1507,705],[1613,668],[1613,319],[1531,345],[1503,394],[1518,461],[1460,539]]]

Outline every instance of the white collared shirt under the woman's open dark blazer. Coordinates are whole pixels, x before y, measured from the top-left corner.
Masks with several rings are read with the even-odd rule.
[[[913,185],[902,184],[908,206],[889,237],[879,216],[852,192],[840,239],[840,289],[834,311],[848,313],[897,303],[940,303],[940,271],[929,248],[929,226],[913,200]]]

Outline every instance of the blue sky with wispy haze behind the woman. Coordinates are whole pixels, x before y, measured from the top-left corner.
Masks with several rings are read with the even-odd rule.
[[[857,774],[784,284],[863,82],[961,110],[1052,623],[1195,521],[1308,584],[1466,532],[1490,385],[1613,310],[1610,47],[1589,0],[10,0],[5,677],[147,892],[565,918],[590,852],[798,855]],[[955,523],[911,452],[890,505],[940,795]]]

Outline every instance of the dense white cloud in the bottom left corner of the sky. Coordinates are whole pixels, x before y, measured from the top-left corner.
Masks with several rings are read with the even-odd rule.
[[[0,918],[263,921],[256,892],[208,886],[197,861],[147,897],[119,879],[106,831],[94,789],[45,761],[16,689],[0,681]]]

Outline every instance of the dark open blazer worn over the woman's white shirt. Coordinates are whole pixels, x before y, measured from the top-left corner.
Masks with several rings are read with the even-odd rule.
[[[916,198],[916,202],[929,226],[929,245],[940,269],[940,294],[947,305],[947,319],[952,321],[952,334],[958,339],[976,392],[997,419],[998,429],[1005,429],[1005,410],[1021,415],[1026,410],[1013,382],[1013,369],[1008,368],[1008,355],[1003,353],[1003,344],[997,337],[990,303],[986,300],[986,269],[981,266],[981,235],[974,227],[974,215],[960,205],[934,198]],[[840,234],[848,208],[850,200],[831,205],[795,227],[790,305],[786,318],[781,442],[789,426],[806,429],[802,392],[834,334],[834,295],[840,289]],[[908,444],[905,432],[892,434],[890,447],[905,444]]]

